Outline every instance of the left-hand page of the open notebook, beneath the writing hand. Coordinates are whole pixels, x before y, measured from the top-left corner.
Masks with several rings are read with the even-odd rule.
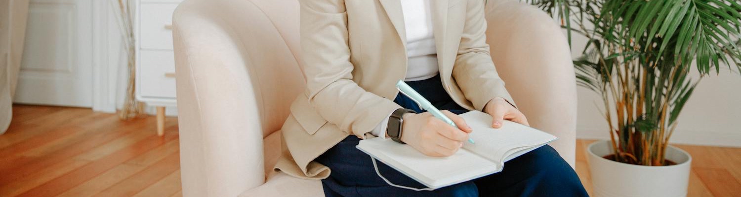
[[[391,139],[361,140],[357,147],[428,187],[439,188],[498,172],[498,162],[461,149],[452,156],[425,156],[409,145]]]

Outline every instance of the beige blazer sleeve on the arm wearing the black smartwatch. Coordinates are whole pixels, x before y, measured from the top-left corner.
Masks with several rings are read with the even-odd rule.
[[[300,33],[305,94],[323,119],[364,137],[397,108],[353,81],[344,0],[301,0]]]

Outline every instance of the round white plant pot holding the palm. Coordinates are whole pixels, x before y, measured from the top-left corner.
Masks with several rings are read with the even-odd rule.
[[[612,154],[609,141],[594,142],[587,148],[594,196],[687,196],[692,157],[669,145],[670,166],[629,165],[602,158]]]

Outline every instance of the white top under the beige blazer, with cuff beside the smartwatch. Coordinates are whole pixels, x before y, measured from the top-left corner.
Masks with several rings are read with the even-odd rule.
[[[437,51],[432,31],[432,13],[430,1],[435,0],[402,0],[404,29],[407,35],[407,75],[405,81],[426,80],[435,77]],[[391,114],[388,114],[391,116]],[[388,118],[373,128],[371,134],[386,137]]]

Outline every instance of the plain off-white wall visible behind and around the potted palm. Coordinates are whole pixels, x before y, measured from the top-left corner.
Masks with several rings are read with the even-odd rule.
[[[574,35],[572,55],[579,56],[586,38]],[[737,69],[721,68],[720,75],[704,77],[688,100],[670,142],[694,145],[741,147],[741,75]],[[576,136],[609,139],[602,100],[593,91],[579,87]]]

